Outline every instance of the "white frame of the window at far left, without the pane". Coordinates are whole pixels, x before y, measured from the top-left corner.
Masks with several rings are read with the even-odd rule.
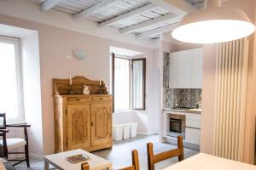
[[[24,88],[23,88],[23,74],[22,74],[22,56],[21,56],[21,40],[16,37],[5,37],[0,35],[0,42],[11,43],[15,45],[15,66],[16,66],[16,80],[18,92],[18,107],[19,116],[17,119],[7,119],[9,123],[25,122],[25,107],[24,107]],[[6,113],[8,116],[8,113]]]

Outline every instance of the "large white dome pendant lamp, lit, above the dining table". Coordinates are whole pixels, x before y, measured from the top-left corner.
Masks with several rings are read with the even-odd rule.
[[[183,17],[172,37],[181,42],[215,43],[247,37],[254,31],[255,26],[241,9],[206,0],[205,8]]]

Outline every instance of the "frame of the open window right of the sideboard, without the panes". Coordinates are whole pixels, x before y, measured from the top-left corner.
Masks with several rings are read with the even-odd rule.
[[[114,96],[114,61],[115,58],[119,58],[119,59],[128,59],[129,63],[130,63],[130,78],[129,78],[129,86],[130,86],[130,93],[129,93],[129,102],[130,102],[130,108],[129,110],[137,110],[137,111],[146,111],[146,58],[131,58],[131,57],[127,57],[125,55],[116,55],[112,53],[112,94]],[[133,104],[133,98],[132,98],[132,94],[133,94],[133,65],[132,63],[134,61],[137,60],[142,60],[143,61],[143,107],[142,108],[133,108],[132,104]],[[113,97],[113,112],[123,112],[123,111],[127,111],[127,110],[114,110],[114,97]]]

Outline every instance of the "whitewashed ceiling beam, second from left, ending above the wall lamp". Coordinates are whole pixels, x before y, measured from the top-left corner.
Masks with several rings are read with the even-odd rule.
[[[78,19],[89,17],[93,14],[97,14],[97,13],[101,12],[102,10],[112,7],[117,2],[119,2],[119,0],[103,0],[102,2],[96,3],[96,5],[94,5],[90,8],[84,9],[83,11],[79,12],[78,14],[75,14],[74,19],[78,20]]]

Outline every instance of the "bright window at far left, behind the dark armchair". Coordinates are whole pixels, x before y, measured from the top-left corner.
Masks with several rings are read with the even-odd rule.
[[[20,39],[0,37],[0,112],[7,122],[23,122]]]

